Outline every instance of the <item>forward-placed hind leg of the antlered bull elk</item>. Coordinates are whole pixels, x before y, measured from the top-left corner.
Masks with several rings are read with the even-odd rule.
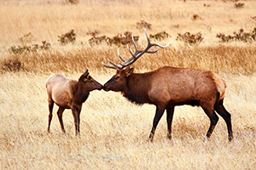
[[[218,122],[218,116],[213,110],[212,105],[201,105],[202,109],[206,112],[207,116],[210,118],[211,124],[207,131],[207,139],[209,139],[212,135],[212,132]]]

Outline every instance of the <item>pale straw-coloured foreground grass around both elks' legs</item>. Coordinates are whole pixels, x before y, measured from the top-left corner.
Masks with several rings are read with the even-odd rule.
[[[79,77],[80,73],[68,77]],[[111,75],[91,73],[99,82]],[[235,139],[219,119],[211,139],[203,142],[209,126],[197,107],[177,107],[172,141],[166,139],[163,116],[154,143],[148,135],[154,106],[132,105],[120,94],[94,91],[81,112],[81,136],[74,136],[73,116],[65,111],[67,135],[55,114],[47,133],[48,108],[44,82],[48,75],[1,75],[1,169],[253,169],[255,164],[256,77],[223,74],[228,83],[224,105],[232,114]]]

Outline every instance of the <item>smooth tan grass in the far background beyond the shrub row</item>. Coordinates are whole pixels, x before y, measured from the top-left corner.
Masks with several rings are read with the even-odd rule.
[[[241,27],[251,31],[255,27],[255,1],[246,1],[237,9],[233,1],[80,1],[77,5],[63,1],[8,1],[0,2],[0,45],[19,43],[19,37],[32,32],[35,42],[57,43],[58,36],[74,29],[78,42],[88,42],[88,31],[98,30],[101,35],[113,37],[124,31],[144,37],[136,23],[146,20],[152,24],[148,33],[167,31],[172,44],[177,33],[197,33],[205,37],[203,44],[218,43],[216,34],[232,34]],[[206,4],[206,6],[205,6]],[[209,6],[208,6],[209,5]],[[14,13],[15,11],[15,13]],[[192,20],[194,14],[201,20]]]

